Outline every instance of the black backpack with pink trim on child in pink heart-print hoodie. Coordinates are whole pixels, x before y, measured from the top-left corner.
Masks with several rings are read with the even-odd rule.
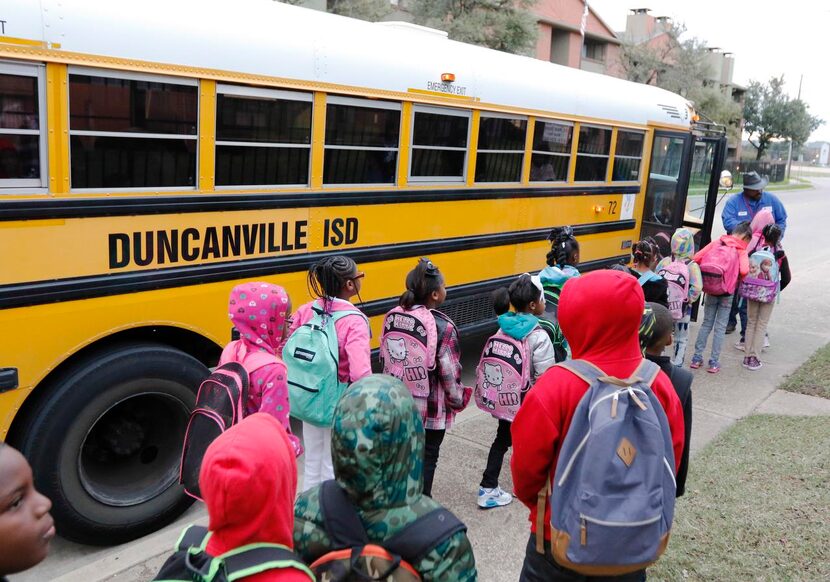
[[[244,366],[239,362],[226,362],[213,370],[199,386],[196,404],[187,421],[179,466],[179,483],[191,497],[202,501],[199,471],[208,446],[245,416],[250,375],[276,361],[273,354],[253,352],[245,358]]]

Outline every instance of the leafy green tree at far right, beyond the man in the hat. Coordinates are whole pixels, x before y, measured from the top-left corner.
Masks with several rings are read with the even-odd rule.
[[[744,101],[744,120],[744,131],[757,152],[756,160],[761,159],[772,140],[791,139],[794,146],[800,146],[824,123],[810,115],[803,101],[790,99],[784,93],[784,75],[772,77],[766,84],[750,81]]]

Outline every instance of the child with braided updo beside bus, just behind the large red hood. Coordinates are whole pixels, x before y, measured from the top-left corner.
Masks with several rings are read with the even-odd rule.
[[[554,228],[550,231],[548,240],[551,241],[548,252],[547,266],[539,271],[539,280],[545,290],[545,312],[539,325],[548,333],[553,343],[556,361],[562,362],[568,357],[568,342],[565,339],[556,319],[559,307],[559,294],[569,279],[579,277],[579,242],[573,235],[570,226]]]

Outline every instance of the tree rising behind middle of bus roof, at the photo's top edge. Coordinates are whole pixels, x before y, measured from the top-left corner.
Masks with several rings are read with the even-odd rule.
[[[527,8],[536,0],[414,0],[416,24],[447,31],[449,37],[488,48],[530,54],[536,18]]]

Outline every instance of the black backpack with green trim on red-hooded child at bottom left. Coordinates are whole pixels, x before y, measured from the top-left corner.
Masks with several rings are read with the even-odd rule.
[[[182,532],[176,543],[176,553],[170,556],[153,578],[156,582],[232,582],[266,570],[296,568],[314,580],[314,574],[297,555],[279,544],[249,544],[211,556],[205,552],[210,532],[205,527],[191,525]]]

